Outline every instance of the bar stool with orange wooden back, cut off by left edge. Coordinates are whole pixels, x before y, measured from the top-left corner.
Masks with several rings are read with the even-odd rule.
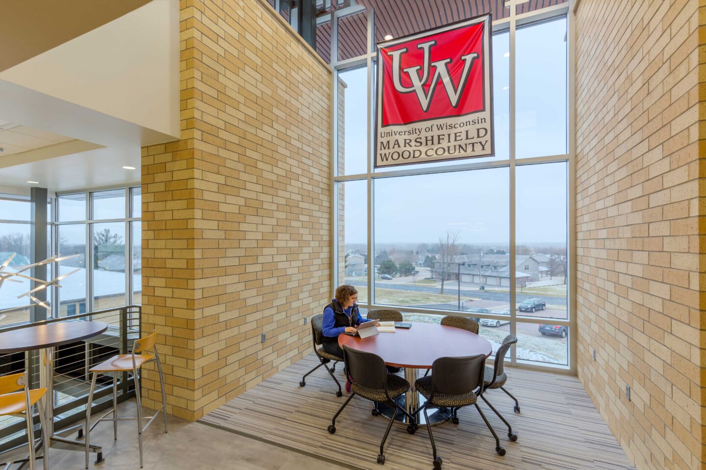
[[[18,392],[17,390],[23,389]],[[36,404],[37,411],[40,415],[40,424],[42,426],[42,447],[44,455],[42,455],[42,463],[44,470],[49,467],[49,439],[47,438],[47,426],[44,422],[44,409],[40,404],[40,398],[44,397],[47,392],[46,388],[35,388],[30,390],[29,379],[26,372],[13,373],[10,376],[0,377],[0,416],[16,416],[24,418],[27,421],[27,441],[30,447],[29,458],[16,460],[14,462],[6,462],[5,468],[9,468],[12,464],[21,462],[30,462],[30,470],[35,470],[36,455],[35,455],[35,432],[34,424],[32,423],[32,407]]]

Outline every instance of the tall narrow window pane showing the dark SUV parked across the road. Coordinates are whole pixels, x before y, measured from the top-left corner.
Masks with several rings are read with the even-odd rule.
[[[515,169],[518,315],[568,319],[566,165]]]

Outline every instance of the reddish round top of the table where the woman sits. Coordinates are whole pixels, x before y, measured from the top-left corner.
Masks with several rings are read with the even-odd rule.
[[[493,352],[493,346],[485,338],[436,323],[412,323],[412,328],[397,328],[395,333],[379,333],[364,339],[340,335],[338,344],[378,354],[388,366],[411,369],[431,369],[433,361],[439,357],[476,354],[488,357]]]

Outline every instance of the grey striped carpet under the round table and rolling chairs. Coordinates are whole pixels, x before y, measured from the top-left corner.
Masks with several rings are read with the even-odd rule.
[[[421,426],[414,435],[393,426],[385,444],[385,465],[376,464],[388,421],[371,416],[371,403],[360,397],[348,404],[336,420],[336,433],[330,435],[326,426],[346,395],[335,397],[335,383],[323,367],[306,378],[306,387],[299,387],[301,376],[316,364],[312,353],[199,421],[352,469],[432,468],[429,435]],[[449,421],[433,428],[444,469],[634,469],[575,377],[506,371],[506,388],[520,400],[522,413],[513,412],[513,401],[501,390],[489,390],[486,396],[519,439],[510,442],[507,427],[481,403],[507,451],[498,456],[476,409],[463,408],[459,425]],[[342,364],[335,374],[343,383]]]

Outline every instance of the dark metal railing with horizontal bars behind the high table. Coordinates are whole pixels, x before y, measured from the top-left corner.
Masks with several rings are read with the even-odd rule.
[[[47,323],[90,320],[107,323],[108,328],[104,333],[54,350],[54,388],[49,403],[54,408],[56,433],[67,433],[83,426],[90,388],[89,369],[115,354],[128,354],[132,350],[133,342],[140,338],[142,330],[141,312],[140,305],[129,305],[0,328],[2,333]],[[0,354],[0,376],[21,371],[28,371],[32,388],[39,386],[39,351]],[[118,392],[119,402],[135,396],[134,380],[128,373],[123,373],[119,378]],[[99,374],[91,413],[110,407],[112,376]],[[35,424],[38,422],[39,417],[35,416]],[[36,426],[35,434],[35,437],[39,437]],[[0,417],[0,453],[23,445],[27,445],[25,421],[11,416]]]

